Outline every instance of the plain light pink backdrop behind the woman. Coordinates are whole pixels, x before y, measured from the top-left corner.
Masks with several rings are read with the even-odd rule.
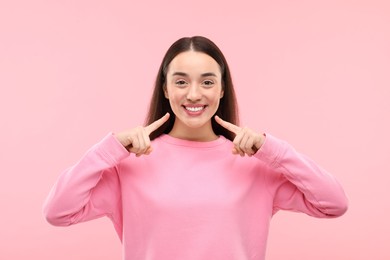
[[[243,125],[350,199],[333,220],[278,213],[267,259],[390,259],[389,2],[228,2],[0,2],[0,259],[121,258],[108,219],[52,227],[42,204],[107,132],[142,124],[163,54],[192,35],[226,54]]]

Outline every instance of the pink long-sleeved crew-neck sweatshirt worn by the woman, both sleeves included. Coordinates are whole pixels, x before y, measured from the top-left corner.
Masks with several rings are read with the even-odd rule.
[[[339,183],[289,144],[267,135],[253,157],[224,137],[162,135],[148,156],[109,134],[53,187],[44,206],[58,226],[109,217],[125,260],[264,260],[278,210],[329,218],[347,199]]]

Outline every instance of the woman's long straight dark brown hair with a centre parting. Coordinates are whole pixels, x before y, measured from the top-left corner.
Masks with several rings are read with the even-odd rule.
[[[171,45],[171,47],[166,52],[157,73],[145,125],[153,123],[157,119],[164,116],[167,112],[169,112],[171,116],[169,117],[169,120],[165,122],[165,124],[151,133],[150,140],[153,140],[162,134],[167,134],[172,130],[173,124],[175,122],[175,114],[171,109],[169,100],[164,95],[168,66],[178,54],[189,50],[205,53],[212,57],[219,64],[222,75],[222,90],[224,91],[224,95],[220,100],[218,110],[215,114],[232,124],[239,124],[236,94],[234,92],[229,66],[223,53],[218,48],[218,46],[215,45],[215,43],[203,36],[184,37]],[[233,141],[235,135],[220,126],[215,121],[214,117],[211,118],[211,124],[215,134],[223,135],[227,139]]]

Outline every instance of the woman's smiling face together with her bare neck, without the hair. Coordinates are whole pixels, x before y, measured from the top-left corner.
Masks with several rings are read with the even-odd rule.
[[[223,96],[218,63],[202,52],[182,52],[169,64],[166,79],[165,97],[176,116],[171,134],[215,137],[211,117]]]

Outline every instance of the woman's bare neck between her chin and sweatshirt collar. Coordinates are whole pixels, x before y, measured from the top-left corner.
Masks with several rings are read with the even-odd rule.
[[[219,137],[213,131],[211,121],[202,126],[201,128],[191,128],[175,122],[169,135],[175,138],[198,141],[198,142],[209,142],[217,140]]]

